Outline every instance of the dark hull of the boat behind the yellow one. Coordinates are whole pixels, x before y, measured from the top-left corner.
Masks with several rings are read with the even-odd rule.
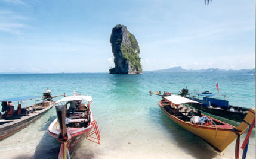
[[[198,101],[198,100],[196,100],[196,101]],[[201,102],[201,101],[199,101],[199,102]],[[193,104],[193,107],[195,107],[198,110],[201,110],[201,104],[195,103],[195,104]],[[246,108],[241,107],[241,109],[245,109],[246,111],[232,112],[228,109],[220,109],[219,107],[207,107],[205,104],[202,104],[203,112],[210,113],[210,114],[216,115],[216,116],[221,116],[226,119],[235,120],[236,122],[242,122],[249,111],[249,109],[246,109]]]

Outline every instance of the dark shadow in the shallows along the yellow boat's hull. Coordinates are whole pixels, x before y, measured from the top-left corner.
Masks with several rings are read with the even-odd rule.
[[[182,148],[185,152],[187,151],[193,157],[214,158],[220,155],[206,141],[172,122],[160,108],[151,108],[149,109],[149,113],[153,116],[156,116],[157,113],[159,119],[155,120],[156,126],[168,132],[166,136],[171,141],[174,139],[175,141],[172,142],[177,142],[178,147]]]

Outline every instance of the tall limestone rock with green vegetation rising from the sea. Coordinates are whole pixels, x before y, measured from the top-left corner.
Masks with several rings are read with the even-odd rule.
[[[118,24],[113,27],[110,43],[115,57],[115,67],[109,69],[110,74],[142,74],[140,47],[126,26]]]

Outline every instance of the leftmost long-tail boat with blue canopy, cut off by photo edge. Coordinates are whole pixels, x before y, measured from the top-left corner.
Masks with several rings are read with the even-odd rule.
[[[0,141],[35,122],[50,110],[54,101],[51,100],[53,97],[51,97],[50,90],[47,94],[50,96],[23,96],[0,100],[1,112],[5,112],[3,115],[0,112]],[[28,106],[33,100],[35,100],[35,104]],[[14,109],[13,103],[17,103],[17,109]],[[25,105],[25,107],[21,105]]]

